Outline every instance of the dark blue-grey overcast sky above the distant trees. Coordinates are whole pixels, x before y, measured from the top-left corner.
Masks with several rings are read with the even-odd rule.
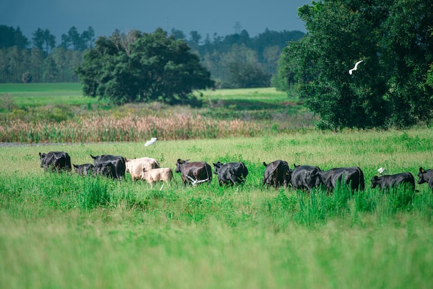
[[[187,37],[198,31],[219,36],[234,34],[240,24],[250,37],[269,30],[300,30],[304,23],[297,16],[297,8],[311,4],[311,0],[3,0],[0,24],[19,26],[29,39],[37,28],[56,36],[67,34],[75,26],[78,32],[89,26],[95,36],[109,36],[138,29],[154,32],[158,27],[171,31],[182,30]],[[6,3],[5,3],[6,2]]]

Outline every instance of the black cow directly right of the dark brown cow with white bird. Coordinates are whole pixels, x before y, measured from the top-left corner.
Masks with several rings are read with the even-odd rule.
[[[235,185],[245,182],[248,169],[243,162],[214,163],[214,174],[218,176],[218,183]]]

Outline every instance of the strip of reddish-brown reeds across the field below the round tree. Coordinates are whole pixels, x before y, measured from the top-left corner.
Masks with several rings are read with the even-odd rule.
[[[151,137],[165,140],[256,136],[263,125],[243,120],[213,120],[179,113],[155,115],[80,116],[63,122],[8,120],[0,125],[0,142],[136,142]]]

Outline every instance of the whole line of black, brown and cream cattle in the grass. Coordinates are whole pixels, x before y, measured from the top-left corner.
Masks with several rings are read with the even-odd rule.
[[[71,171],[71,157],[64,151],[50,151],[39,153],[41,167],[46,170]],[[73,165],[74,170],[80,175],[101,175],[108,178],[122,180],[126,173],[131,179],[146,180],[153,185],[155,182],[169,182],[173,179],[171,168],[161,168],[154,158],[134,158],[127,160],[123,156],[92,156],[93,164]],[[248,175],[248,169],[243,162],[216,162],[213,174],[218,176],[219,185],[239,185],[244,183]],[[288,166],[284,160],[275,160],[266,164],[262,185],[270,187],[288,187],[293,189],[308,189],[324,186],[332,191],[338,185],[347,185],[352,192],[365,189],[364,173],[359,167],[339,167],[322,171],[319,167],[309,165],[295,165],[294,169]],[[181,173],[183,185],[198,185],[212,181],[212,168],[207,162],[190,162],[178,159],[176,173]],[[433,189],[433,169],[425,170],[420,167],[418,171],[418,184],[428,183]],[[410,172],[394,175],[374,176],[371,178],[371,188],[379,187],[381,190],[397,188],[405,185],[409,189],[415,189],[414,176]]]

